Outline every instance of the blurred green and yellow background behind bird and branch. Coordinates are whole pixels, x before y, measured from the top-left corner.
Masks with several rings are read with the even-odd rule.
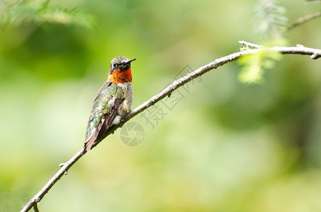
[[[52,0],[81,8],[81,24],[0,29],[0,211],[19,211],[84,144],[86,122],[111,59],[132,64],[133,108],[174,81],[259,42],[257,1]],[[282,1],[288,20],[320,8]],[[321,48],[320,18],[284,34]],[[321,211],[321,59],[286,55],[260,85],[232,62],[179,88],[184,98],[140,145],[120,130],[81,158],[40,211]]]

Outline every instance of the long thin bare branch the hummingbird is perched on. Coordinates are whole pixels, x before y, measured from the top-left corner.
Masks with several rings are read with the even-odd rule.
[[[216,69],[219,66],[223,66],[224,64],[229,63],[230,61],[234,61],[238,59],[239,57],[242,57],[247,54],[255,54],[257,52],[261,51],[273,51],[273,52],[281,52],[281,54],[305,54],[305,55],[310,55],[312,59],[317,59],[321,57],[321,49],[312,49],[308,47],[303,47],[302,45],[297,45],[296,47],[261,47],[260,45],[255,45],[250,42],[245,42],[245,41],[240,41],[242,45],[246,45],[247,47],[254,47],[255,49],[247,49],[241,52],[235,52],[233,54],[227,55],[225,57],[221,57],[219,59],[215,59],[215,61],[210,62],[209,64],[205,66],[201,66],[200,68],[196,69],[195,71],[188,73],[186,76],[183,76],[182,78],[179,78],[178,80],[174,81],[169,85],[167,88],[162,90],[160,93],[157,95],[154,95],[150,100],[147,100],[146,102],[142,103],[142,105],[136,107],[134,110],[132,110],[126,117],[125,119],[120,122],[120,124],[113,125],[111,128],[108,130],[108,132],[103,135],[102,139],[100,141],[96,141],[94,146],[96,146],[98,143],[100,143],[103,139],[106,138],[109,134],[112,134],[116,129],[118,129],[120,126],[123,126],[128,120],[132,119],[135,117],[137,114],[140,114],[140,112],[143,112],[146,110],[148,107],[151,107],[152,105],[156,104],[163,98],[167,97],[170,95],[174,90],[177,88],[184,86],[186,83],[189,81],[192,81],[194,78],[197,78],[199,76],[202,76],[204,73]],[[93,147],[94,147],[93,146]],[[63,176],[67,175],[67,171],[69,170],[74,163],[81,158],[82,154],[85,154],[86,152],[84,151],[84,148],[82,148],[78,153],[76,153],[70,160],[68,160],[66,163],[61,164],[62,168],[45,184],[43,189],[38,192],[38,194],[35,194],[35,196],[28,201],[26,206],[23,207],[21,210],[23,211],[29,211],[30,208],[35,206],[37,208],[38,202],[43,199],[43,196],[49,192],[49,190],[52,188],[52,186]],[[38,208],[37,208],[38,209]]]

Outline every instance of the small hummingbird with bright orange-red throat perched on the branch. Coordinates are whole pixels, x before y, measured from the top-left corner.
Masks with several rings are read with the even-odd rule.
[[[134,60],[123,56],[111,60],[108,79],[98,91],[91,109],[85,151],[89,151],[111,125],[118,124],[130,112],[134,93],[130,63]]]

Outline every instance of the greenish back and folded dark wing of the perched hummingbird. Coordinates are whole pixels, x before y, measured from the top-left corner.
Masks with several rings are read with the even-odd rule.
[[[91,111],[91,117],[86,132],[86,151],[89,151],[94,145],[94,142],[103,136],[106,131],[113,124],[113,120],[118,114],[118,108],[125,100],[123,90],[113,83],[108,83],[101,87],[98,92],[98,96],[94,100],[93,110]],[[111,107],[102,110],[104,108],[101,105],[109,104]],[[106,106],[105,106],[106,107]]]

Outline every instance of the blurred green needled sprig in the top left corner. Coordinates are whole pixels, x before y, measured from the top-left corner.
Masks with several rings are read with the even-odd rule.
[[[75,9],[50,6],[50,0],[0,0],[0,25],[62,23],[91,27],[94,18]]]

